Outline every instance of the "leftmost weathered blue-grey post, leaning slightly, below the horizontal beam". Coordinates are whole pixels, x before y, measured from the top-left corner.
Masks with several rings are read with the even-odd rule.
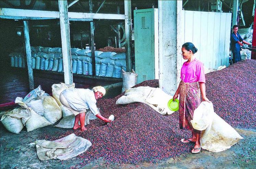
[[[29,43],[28,21],[24,20],[23,24],[24,24],[24,39],[25,39],[25,47],[26,47],[29,89],[34,90],[35,87],[34,87],[34,77],[33,77],[33,69],[32,69],[31,48]]]

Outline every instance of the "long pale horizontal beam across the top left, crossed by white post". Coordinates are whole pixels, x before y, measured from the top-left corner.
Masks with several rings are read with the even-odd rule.
[[[124,20],[123,14],[96,14],[83,12],[68,12],[69,18],[73,20],[79,19],[118,19]],[[3,19],[59,19],[60,15],[57,11],[40,11],[40,10],[24,10],[12,8],[0,8],[0,18]]]

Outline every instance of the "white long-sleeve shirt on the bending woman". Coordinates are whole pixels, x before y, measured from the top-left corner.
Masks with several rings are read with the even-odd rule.
[[[66,89],[62,91],[62,95],[66,98],[70,107],[76,111],[90,109],[94,115],[99,113],[93,90],[79,88]]]

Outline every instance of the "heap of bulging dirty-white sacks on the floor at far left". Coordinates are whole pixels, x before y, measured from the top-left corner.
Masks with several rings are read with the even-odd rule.
[[[61,118],[61,109],[53,97],[45,94],[38,86],[24,99],[17,97],[15,103],[20,108],[13,109],[1,118],[4,127],[12,133],[20,133],[26,126],[27,131],[56,123]]]

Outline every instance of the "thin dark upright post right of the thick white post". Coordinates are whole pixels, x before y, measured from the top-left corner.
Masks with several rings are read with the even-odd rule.
[[[89,8],[90,8],[90,13],[93,13],[92,0],[89,1]],[[94,22],[90,22],[90,29],[91,29],[91,51],[92,51],[93,76],[95,76],[96,75],[96,66],[95,66],[95,51],[94,51],[94,29],[95,29]]]

